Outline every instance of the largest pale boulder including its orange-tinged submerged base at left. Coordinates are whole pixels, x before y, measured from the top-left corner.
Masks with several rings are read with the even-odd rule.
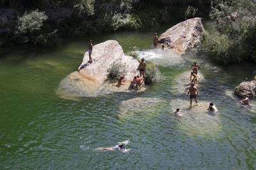
[[[95,97],[113,92],[125,92],[133,76],[139,74],[138,60],[124,55],[122,46],[117,41],[109,40],[93,46],[92,64],[88,64],[88,52],[84,53],[79,71],[70,73],[64,78],[57,90],[61,97],[74,99],[76,97]],[[125,83],[116,87],[116,83],[109,83],[108,68],[113,64],[122,64],[125,71]]]

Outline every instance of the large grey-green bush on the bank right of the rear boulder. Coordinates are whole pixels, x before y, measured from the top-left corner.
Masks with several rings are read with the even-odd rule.
[[[216,33],[202,36],[202,52],[220,64],[256,62],[256,4],[252,0],[216,1],[210,17]]]

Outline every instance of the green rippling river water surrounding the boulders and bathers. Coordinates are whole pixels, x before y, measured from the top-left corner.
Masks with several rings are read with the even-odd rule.
[[[56,90],[81,64],[88,39],[51,50],[1,48],[0,169],[256,169],[256,102],[245,108],[233,93],[253,79],[256,65],[217,66],[193,52],[165,55],[152,49],[153,32],[88,39],[115,39],[124,52],[138,46],[146,62],[159,66],[161,81],[145,92],[78,100]],[[199,105],[189,108],[184,84],[194,60],[202,68]],[[216,115],[205,110],[211,101]],[[173,116],[177,107],[183,117]],[[93,150],[127,139],[127,153]]]

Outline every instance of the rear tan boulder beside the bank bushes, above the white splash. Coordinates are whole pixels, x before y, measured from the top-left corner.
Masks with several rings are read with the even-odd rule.
[[[174,25],[161,34],[159,43],[167,44],[169,48],[180,53],[191,50],[200,43],[200,36],[204,31],[201,20],[202,18],[191,18]]]

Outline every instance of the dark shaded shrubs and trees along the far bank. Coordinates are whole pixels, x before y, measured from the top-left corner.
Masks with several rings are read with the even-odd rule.
[[[0,44],[51,46],[56,38],[139,31],[170,20],[208,15],[210,0],[0,0],[0,12],[18,15],[1,32]],[[1,25],[0,25],[1,27]]]

